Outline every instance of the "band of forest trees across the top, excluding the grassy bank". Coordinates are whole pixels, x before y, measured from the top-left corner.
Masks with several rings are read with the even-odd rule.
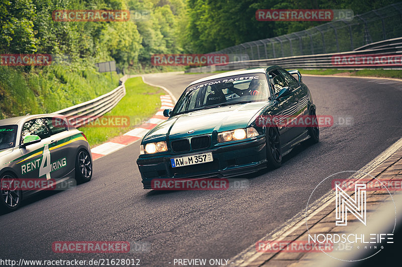
[[[208,53],[305,30],[320,22],[259,22],[258,9],[351,9],[362,14],[392,0],[0,0],[2,54],[68,55],[120,68],[149,65],[155,53]],[[127,22],[55,22],[54,10],[147,11]],[[132,13],[134,14],[134,13]]]

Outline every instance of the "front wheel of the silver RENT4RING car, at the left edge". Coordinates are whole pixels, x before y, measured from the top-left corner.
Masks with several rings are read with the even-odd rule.
[[[13,181],[17,180],[18,178],[11,173],[5,173],[0,178],[0,184],[2,186],[6,186],[7,188],[0,188],[6,189],[2,191],[2,199],[0,200],[0,209],[5,212],[11,212],[17,210],[22,202],[22,191],[19,188],[14,188],[13,190]],[[5,182],[7,180],[8,182]],[[7,190],[9,189],[9,190]]]

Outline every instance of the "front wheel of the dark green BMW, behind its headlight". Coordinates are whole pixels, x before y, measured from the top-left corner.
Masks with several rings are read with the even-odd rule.
[[[279,132],[276,127],[267,127],[266,130],[267,166],[276,169],[282,165],[282,152]]]

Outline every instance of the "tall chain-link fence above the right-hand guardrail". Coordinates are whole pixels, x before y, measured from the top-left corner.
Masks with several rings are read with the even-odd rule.
[[[352,21],[334,21],[308,30],[243,43],[214,54],[247,55],[269,59],[353,51],[361,46],[402,36],[402,2],[355,15]],[[230,60],[236,61],[236,60]]]

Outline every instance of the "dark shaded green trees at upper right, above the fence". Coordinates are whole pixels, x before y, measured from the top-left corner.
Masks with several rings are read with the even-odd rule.
[[[362,14],[400,0],[188,0],[182,47],[208,53],[241,43],[306,30],[326,22],[259,22],[258,9],[351,9]],[[381,25],[379,24],[378,27]],[[395,25],[400,27],[400,25]],[[374,41],[374,40],[373,40]],[[355,46],[356,47],[356,46]],[[276,48],[275,48],[276,49]]]

